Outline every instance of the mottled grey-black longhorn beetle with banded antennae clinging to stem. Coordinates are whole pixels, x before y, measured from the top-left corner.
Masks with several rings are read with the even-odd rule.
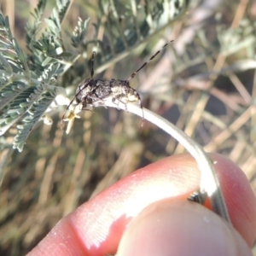
[[[151,58],[143,63],[143,66],[139,67],[136,72],[131,73],[131,76],[127,80],[119,80],[119,79],[93,79],[94,76],[94,58],[96,52],[94,51],[91,57],[91,70],[90,70],[90,79],[85,79],[84,82],[79,84],[79,87],[76,91],[76,95],[73,97],[73,100],[67,106],[65,113],[62,116],[61,123],[63,120],[71,121],[73,124],[73,119],[77,117],[77,115],[73,112],[67,115],[67,119],[64,119],[67,110],[70,108],[71,104],[76,100],[78,103],[82,103],[82,110],[90,110],[86,108],[87,106],[91,107],[99,107],[105,106],[104,99],[109,97],[112,98],[113,103],[118,105],[118,102],[122,102],[124,104],[128,102],[137,102],[141,108],[143,109],[141,96],[138,94],[137,90],[133,89],[130,86],[130,81],[133,79],[139,71],[143,69],[143,67],[148,65],[148,62],[152,61],[156,55],[160,53],[162,49],[165,49],[166,46],[172,41],[166,43],[161,49],[159,49]],[[68,125],[71,126],[71,125]],[[68,130],[70,130],[69,127]],[[68,133],[68,131],[67,131]]]

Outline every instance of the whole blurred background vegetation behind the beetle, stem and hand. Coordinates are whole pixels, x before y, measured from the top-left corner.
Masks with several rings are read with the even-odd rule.
[[[171,18],[161,9],[168,1],[143,1],[148,9],[134,8],[140,1],[116,2],[73,1],[62,24],[65,37],[70,38],[65,32],[73,31],[78,17],[90,17],[90,24],[79,60],[58,77],[57,85],[71,99],[90,76],[93,49],[99,52],[96,77],[127,79],[174,39],[131,86],[140,92],[145,108],[171,120],[207,152],[224,154],[241,166],[256,191],[255,1],[191,1],[186,12],[178,6],[181,11]],[[24,27],[37,1],[0,3],[26,52]],[[55,1],[47,3],[45,17],[53,6]],[[144,15],[135,15],[135,10]],[[134,20],[136,16],[141,20]],[[132,32],[123,33],[131,26]],[[38,122],[21,153],[12,148],[15,125],[0,137],[1,255],[28,252],[91,196],[141,166],[184,150],[164,132],[147,122],[141,128],[141,119],[116,109],[83,112],[66,135],[60,127],[64,111],[61,107],[49,113],[52,125]]]

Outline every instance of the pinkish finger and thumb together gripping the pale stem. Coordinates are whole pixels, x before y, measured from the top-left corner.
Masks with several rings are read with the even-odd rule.
[[[252,255],[256,198],[244,173],[210,154],[233,224],[187,201],[200,171],[189,154],[145,166],[62,218],[29,256]]]

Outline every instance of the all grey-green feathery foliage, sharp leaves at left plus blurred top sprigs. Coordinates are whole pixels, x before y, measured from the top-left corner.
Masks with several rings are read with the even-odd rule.
[[[117,61],[119,53],[128,53],[146,38],[159,32],[187,6],[183,1],[160,1],[156,5],[146,1],[144,6],[135,1],[131,1],[131,5],[126,1],[99,1],[100,11],[97,14],[97,23],[94,24],[95,35],[97,38],[100,27],[104,26],[107,46],[96,38],[85,43],[90,18],[78,19],[73,35],[69,35],[69,43],[65,39],[67,45],[64,45],[61,23],[67,15],[70,1],[56,1],[50,17],[44,19],[46,26],[43,29],[46,2],[38,1],[32,14],[33,20],[27,23],[26,47],[29,52],[26,55],[10,31],[8,17],[4,18],[0,13],[0,135],[17,122],[25,124],[17,126],[19,131],[15,137],[14,148],[19,151],[52,102],[49,100],[49,93],[58,88],[54,84],[56,76],[65,73],[79,57],[78,53],[67,50],[68,46],[80,50],[87,49],[90,44],[99,46],[99,64],[106,68]],[[102,17],[106,17],[103,22]],[[65,90],[60,88],[56,91],[65,96]]]

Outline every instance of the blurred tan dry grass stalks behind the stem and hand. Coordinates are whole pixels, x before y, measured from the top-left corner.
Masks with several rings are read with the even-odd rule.
[[[72,7],[71,24],[78,7]],[[11,20],[22,18],[15,5],[5,10]],[[175,38],[175,50],[169,47],[132,85],[142,92],[146,108],[175,122],[208,152],[241,166],[256,192],[256,3],[226,0],[218,11],[191,8],[172,30],[167,27],[161,37]],[[15,29],[19,35],[20,27]],[[155,49],[164,39],[159,41]],[[128,77],[142,62],[128,56],[105,77]],[[141,119],[114,109],[84,112],[66,136],[61,113],[52,126],[32,132],[21,154],[9,149],[0,154],[1,255],[26,253],[91,195],[140,166],[184,150],[155,127],[140,128]]]

